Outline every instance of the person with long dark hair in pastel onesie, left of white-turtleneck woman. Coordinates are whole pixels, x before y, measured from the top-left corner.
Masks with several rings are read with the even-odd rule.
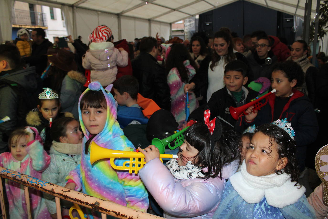
[[[183,44],[175,43],[171,46],[166,60],[167,83],[171,91],[171,112],[179,123],[179,128],[186,119],[186,94],[183,88],[194,77],[197,69],[195,61]],[[194,93],[189,94],[189,106],[190,112],[198,107]]]

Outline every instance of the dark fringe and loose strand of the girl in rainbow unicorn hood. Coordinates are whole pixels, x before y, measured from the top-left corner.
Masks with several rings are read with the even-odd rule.
[[[106,90],[105,90],[106,91]],[[107,92],[107,91],[106,91]],[[106,99],[101,90],[98,91],[88,91],[83,95],[80,101],[80,109],[82,110],[83,108],[103,108],[107,109],[107,104],[106,104]],[[89,144],[92,142],[93,138],[96,135],[90,134],[90,138],[87,142],[85,142],[85,150],[84,153],[88,154],[88,149],[89,149]]]

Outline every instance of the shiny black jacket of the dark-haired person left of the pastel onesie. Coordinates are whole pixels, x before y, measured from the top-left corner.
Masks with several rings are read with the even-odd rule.
[[[165,69],[149,53],[140,53],[132,60],[133,76],[139,81],[139,93],[153,99],[163,109],[171,109],[170,87]]]

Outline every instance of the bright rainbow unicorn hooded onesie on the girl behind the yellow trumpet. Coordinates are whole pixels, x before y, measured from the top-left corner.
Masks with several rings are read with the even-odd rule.
[[[131,151],[133,144],[124,136],[122,129],[116,121],[117,109],[113,95],[109,92],[113,84],[105,89],[97,81],[91,82],[88,88],[82,93],[79,99],[79,106],[84,94],[88,91],[101,90],[105,96],[107,104],[107,119],[104,129],[97,134],[92,141],[101,147]],[[90,136],[86,129],[80,107],[78,108],[80,124],[84,134],[82,142],[81,164],[69,173],[66,180],[74,181],[75,190],[82,189],[83,193],[95,196],[104,200],[117,203],[122,206],[147,211],[149,206],[148,193],[138,174],[129,174],[128,171],[118,171],[112,168],[110,159],[102,159],[90,164],[90,148],[85,154],[85,143]],[[121,165],[127,159],[115,159],[115,165]],[[94,213],[92,213],[96,216]],[[89,218],[93,218],[89,213]]]

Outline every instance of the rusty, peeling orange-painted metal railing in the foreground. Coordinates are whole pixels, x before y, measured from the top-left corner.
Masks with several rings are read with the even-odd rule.
[[[0,177],[6,178],[11,181],[17,182],[24,186],[24,194],[25,194],[25,203],[27,209],[30,209],[30,200],[29,200],[29,190],[28,187],[37,189],[42,192],[46,192],[55,196],[56,208],[57,208],[57,218],[61,219],[61,210],[60,210],[60,199],[67,200],[72,203],[76,203],[80,206],[84,206],[86,208],[90,208],[95,211],[101,212],[101,217],[103,219],[106,218],[106,214],[112,215],[117,218],[162,218],[153,214],[149,214],[146,212],[142,212],[139,210],[135,210],[132,208],[128,208],[125,206],[118,205],[113,202],[105,201],[81,192],[77,192],[62,186],[58,186],[46,181],[42,181],[40,179],[30,177],[28,175],[13,171],[11,169],[7,169],[0,166]],[[2,181],[0,180],[0,201],[1,201],[1,210],[2,210],[2,218],[6,219],[6,210],[5,210],[5,202],[3,196],[3,187]],[[28,218],[31,218],[31,212],[28,212]]]

